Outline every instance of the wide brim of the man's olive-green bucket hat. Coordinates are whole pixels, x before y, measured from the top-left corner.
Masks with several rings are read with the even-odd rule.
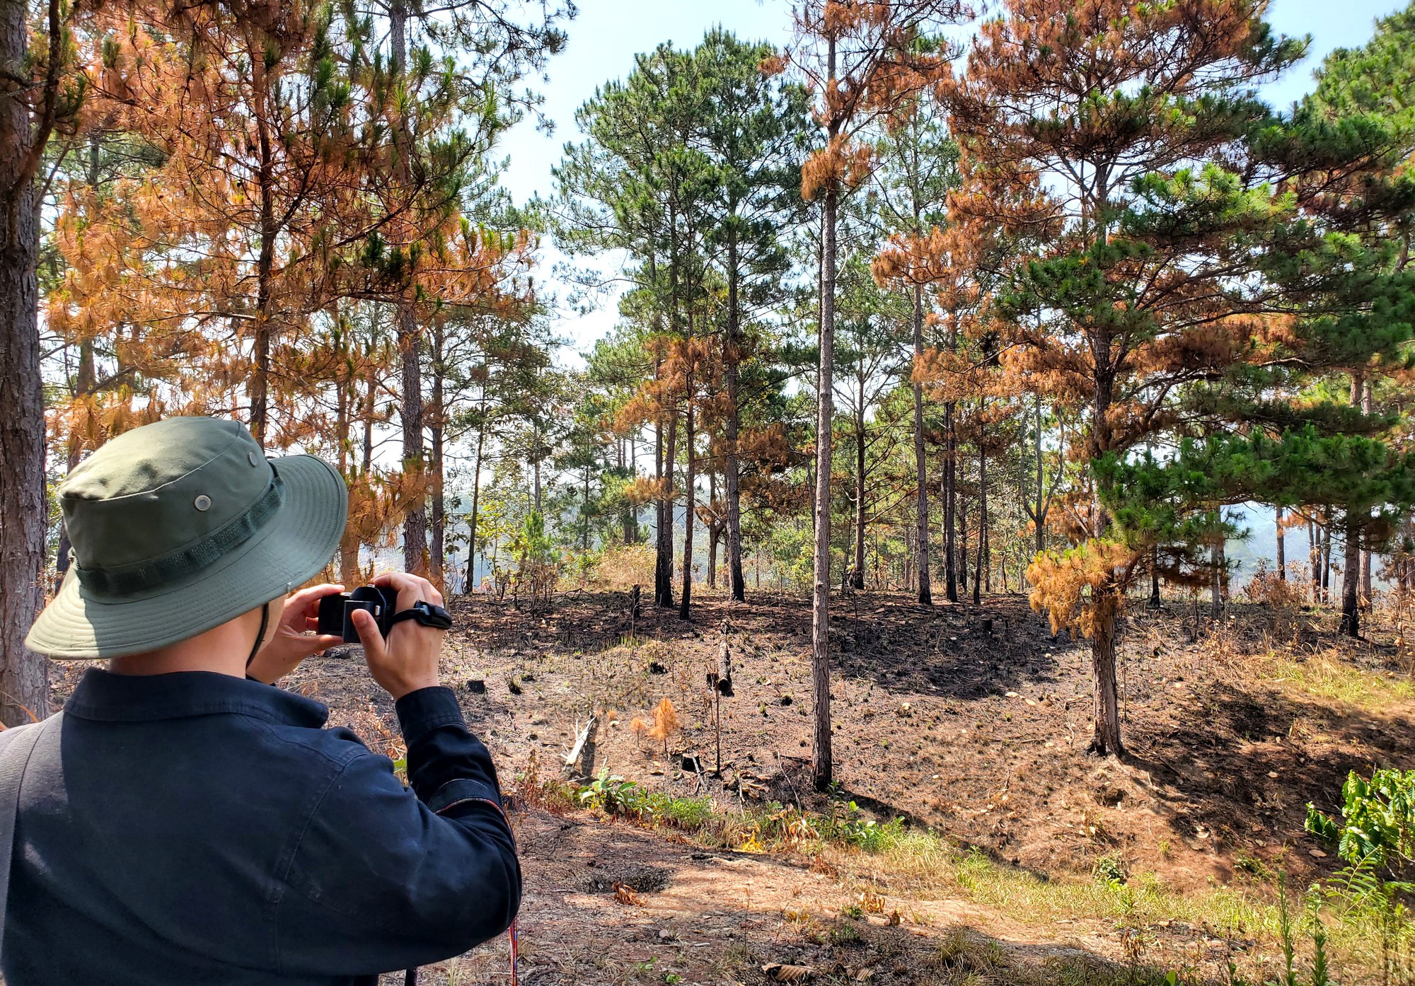
[[[24,644],[59,661],[120,658],[219,627],[289,593],[330,563],[348,519],[348,488],[324,460],[272,460],[284,502],[262,530],[191,577],[150,593],[99,597],[71,567]]]

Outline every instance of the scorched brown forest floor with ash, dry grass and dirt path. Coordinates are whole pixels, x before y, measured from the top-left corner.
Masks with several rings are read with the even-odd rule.
[[[1022,597],[925,610],[853,593],[832,622],[838,789],[818,795],[807,598],[709,596],[692,622],[648,604],[634,618],[623,593],[454,614],[444,680],[516,792],[526,986],[1199,983],[1230,962],[1266,978],[1276,874],[1300,890],[1339,863],[1305,835],[1306,802],[1330,812],[1347,771],[1415,753],[1415,685],[1388,625],[1344,642],[1326,611],[1136,605],[1128,753],[1097,758],[1090,649],[1053,639]],[[724,639],[719,778],[706,675]],[[287,685],[400,754],[361,662],[306,662]],[[666,758],[630,727],[665,697],[683,726]],[[719,820],[608,818],[558,787],[604,768],[689,811],[710,799]],[[792,829],[802,818],[856,835],[873,818],[879,837]],[[1370,931],[1339,922],[1333,948],[1341,982],[1360,982]],[[420,982],[509,982],[508,945]]]

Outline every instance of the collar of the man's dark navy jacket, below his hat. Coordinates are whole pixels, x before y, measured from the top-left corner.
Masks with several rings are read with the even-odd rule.
[[[314,699],[212,671],[115,675],[100,668],[83,672],[64,712],[112,723],[236,713],[307,729],[320,729],[330,716]]]

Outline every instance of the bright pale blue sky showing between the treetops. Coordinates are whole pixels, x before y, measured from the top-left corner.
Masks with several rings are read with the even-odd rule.
[[[594,95],[596,86],[628,75],[635,54],[664,41],[678,48],[693,47],[717,24],[740,37],[777,45],[785,45],[791,37],[790,0],[579,0],[577,6],[566,48],[550,59],[549,81],[538,85],[545,96],[542,112],[553,122],[553,132],[541,133],[528,119],[512,127],[501,144],[511,160],[502,185],[518,202],[552,192],[550,168],[566,141],[582,139],[574,110]],[[1282,108],[1300,99],[1310,89],[1312,69],[1323,55],[1363,44],[1377,17],[1402,6],[1399,0],[1274,0],[1268,11],[1274,28],[1289,35],[1310,34],[1312,45],[1306,61],[1266,86],[1268,99]],[[555,291],[556,279],[548,274],[563,257],[553,248],[543,255],[541,277]],[[584,351],[614,327],[616,317],[610,296],[589,314],[562,314],[558,334],[572,351]],[[570,356],[567,362],[579,361]]]

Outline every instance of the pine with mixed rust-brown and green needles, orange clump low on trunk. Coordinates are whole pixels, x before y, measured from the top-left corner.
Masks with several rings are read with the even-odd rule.
[[[1232,151],[1269,119],[1251,86],[1302,51],[1262,10],[1012,0],[949,86],[965,166],[951,214],[979,239],[1000,228],[1049,240],[999,293],[1009,372],[1084,409],[1087,458],[1142,443],[1177,386],[1247,344],[1232,315],[1264,300],[1241,287],[1251,243],[1288,204]],[[1027,574],[1033,605],[1091,638],[1091,748],[1119,754],[1115,627],[1149,552],[1112,536],[1104,497],[1085,516],[1084,540],[1039,555]]]

